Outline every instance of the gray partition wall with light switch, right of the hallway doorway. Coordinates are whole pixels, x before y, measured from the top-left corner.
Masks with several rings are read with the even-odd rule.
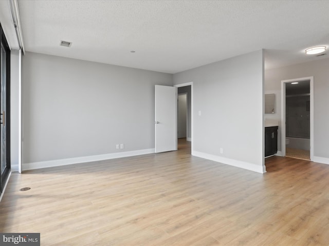
[[[180,72],[173,79],[175,85],[193,82],[192,154],[264,171],[263,51]]]

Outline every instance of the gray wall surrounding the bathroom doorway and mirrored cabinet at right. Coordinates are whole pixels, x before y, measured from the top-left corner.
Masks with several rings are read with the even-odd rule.
[[[322,158],[329,158],[328,68],[329,59],[326,58],[265,71],[265,93],[277,92],[277,112],[275,115],[266,117],[278,120],[281,120],[281,80],[314,76],[314,156]],[[281,139],[281,134],[279,139]],[[279,141],[278,144],[281,150],[281,142]],[[329,163],[329,160],[323,161]]]

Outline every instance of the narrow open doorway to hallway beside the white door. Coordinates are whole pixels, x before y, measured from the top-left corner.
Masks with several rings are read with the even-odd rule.
[[[192,84],[177,86],[177,148],[192,146]]]

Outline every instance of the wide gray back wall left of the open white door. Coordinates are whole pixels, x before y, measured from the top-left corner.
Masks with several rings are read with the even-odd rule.
[[[154,148],[154,85],[172,74],[29,52],[22,62],[23,163]]]

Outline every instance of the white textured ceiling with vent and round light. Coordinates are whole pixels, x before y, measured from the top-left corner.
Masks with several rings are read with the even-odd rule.
[[[329,47],[329,1],[24,0],[19,8],[26,51],[106,64],[177,73],[260,49],[266,69],[329,57],[305,55]]]

